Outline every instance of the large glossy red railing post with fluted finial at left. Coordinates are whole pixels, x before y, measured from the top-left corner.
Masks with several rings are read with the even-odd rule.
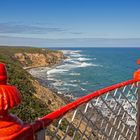
[[[7,84],[7,71],[5,65],[0,63],[0,140],[11,140],[13,135],[23,129],[23,122],[8,113],[8,109],[20,103],[20,92],[15,86]]]

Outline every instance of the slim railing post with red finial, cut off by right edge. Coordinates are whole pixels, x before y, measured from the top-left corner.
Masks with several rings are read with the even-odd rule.
[[[140,59],[137,60],[140,65]],[[134,79],[140,80],[140,69],[134,72]],[[140,83],[138,84],[138,101],[137,101],[137,140],[140,140]]]

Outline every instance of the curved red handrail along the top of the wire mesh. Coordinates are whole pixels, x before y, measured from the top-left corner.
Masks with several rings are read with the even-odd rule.
[[[33,136],[34,133],[38,132],[39,130],[43,129],[44,127],[47,127],[50,123],[52,123],[54,120],[60,118],[61,116],[65,115],[67,112],[75,109],[76,107],[80,106],[81,104],[84,104],[88,101],[90,101],[91,99],[95,98],[95,97],[99,97],[100,95],[103,95],[109,91],[115,90],[117,88],[121,88],[123,86],[129,85],[129,84],[133,84],[135,82],[140,81],[139,79],[131,79],[125,82],[121,82],[119,84],[115,84],[100,90],[97,90],[91,94],[88,94],[86,96],[83,96],[75,101],[73,101],[72,103],[69,103],[63,107],[61,107],[60,109],[36,120],[35,122],[33,122],[30,125],[25,126],[22,131],[16,133],[15,135],[13,135],[11,137],[11,139],[22,139],[22,138],[27,138],[30,136]]]

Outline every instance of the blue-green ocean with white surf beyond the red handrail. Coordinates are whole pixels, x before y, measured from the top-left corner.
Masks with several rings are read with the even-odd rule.
[[[51,48],[52,49],[52,48]],[[140,48],[55,48],[67,59],[52,68],[36,68],[32,74],[59,94],[81,97],[133,78]]]

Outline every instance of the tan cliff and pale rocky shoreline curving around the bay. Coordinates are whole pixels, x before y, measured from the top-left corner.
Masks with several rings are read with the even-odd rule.
[[[65,103],[69,103],[74,100],[74,96],[70,95],[70,93],[60,94],[60,92],[52,86],[52,80],[49,79],[48,75],[45,79],[42,79],[41,75],[38,75],[36,69],[41,71],[42,69],[52,70],[57,66],[63,64],[63,61],[68,57],[64,55],[63,51],[60,50],[50,50],[49,54],[46,54],[46,50],[42,50],[40,52],[33,53],[16,53],[16,59],[22,64],[22,68],[27,71],[31,76],[35,78],[39,82],[39,84],[45,88],[48,88],[50,91],[55,93],[57,96],[62,98]],[[28,58],[28,59],[27,59]],[[43,63],[41,63],[41,62]]]

